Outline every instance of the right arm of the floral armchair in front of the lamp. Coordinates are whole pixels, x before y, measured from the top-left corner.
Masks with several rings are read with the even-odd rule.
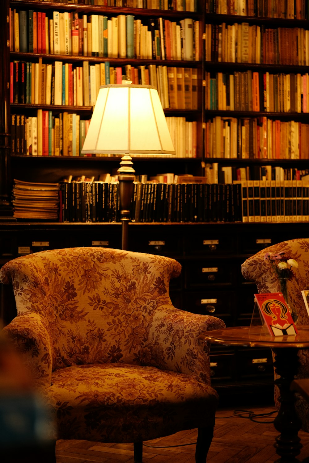
[[[140,350],[140,361],[160,369],[195,376],[210,385],[209,346],[199,341],[202,332],[224,328],[222,320],[209,315],[161,306],[149,322],[148,339]]]

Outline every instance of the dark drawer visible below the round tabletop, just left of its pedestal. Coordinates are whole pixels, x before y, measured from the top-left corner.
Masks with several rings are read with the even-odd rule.
[[[240,349],[237,352],[240,380],[259,376],[273,376],[270,349]]]

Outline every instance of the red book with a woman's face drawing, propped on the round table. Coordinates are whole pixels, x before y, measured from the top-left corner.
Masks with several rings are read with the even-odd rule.
[[[271,336],[297,334],[282,293],[254,294],[254,297]]]

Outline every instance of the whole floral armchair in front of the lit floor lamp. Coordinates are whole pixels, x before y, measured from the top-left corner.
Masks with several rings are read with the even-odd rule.
[[[4,331],[57,425],[50,438],[142,442],[198,428],[205,462],[218,396],[199,333],[215,317],[172,306],[177,261],[105,248],[48,250],[0,269],[17,317]]]

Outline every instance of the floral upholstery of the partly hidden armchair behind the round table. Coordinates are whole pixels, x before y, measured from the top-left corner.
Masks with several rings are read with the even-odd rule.
[[[242,275],[246,280],[254,281],[257,284],[259,293],[277,293],[280,285],[277,275],[274,274],[269,263],[264,261],[266,252],[273,254],[284,251],[291,259],[298,263],[298,269],[293,268],[293,276],[288,282],[289,304],[296,308],[298,313],[297,324],[309,325],[307,310],[303,301],[301,291],[309,288],[309,238],[292,239],[282,243],[274,244],[249,257],[241,266]],[[298,351],[300,367],[297,378],[309,377],[309,350]],[[275,373],[276,376],[276,373]],[[275,401],[279,408],[278,388],[275,387]],[[296,394],[296,411],[302,420],[302,429],[309,432],[309,405],[300,394]]]

